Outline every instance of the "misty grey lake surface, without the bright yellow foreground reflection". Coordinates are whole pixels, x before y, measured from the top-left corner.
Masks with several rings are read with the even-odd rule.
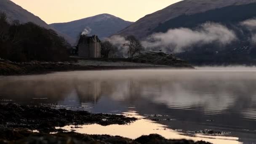
[[[139,115],[183,131],[231,132],[256,141],[256,69],[200,68],[58,72],[0,77],[0,102]]]

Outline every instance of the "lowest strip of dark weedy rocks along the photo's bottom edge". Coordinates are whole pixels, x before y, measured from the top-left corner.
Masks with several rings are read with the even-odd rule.
[[[194,142],[185,139],[170,140],[157,134],[141,136],[133,140],[121,136],[86,135],[75,132],[49,134],[32,133],[25,129],[0,130],[0,143],[3,144],[211,144],[205,141]]]

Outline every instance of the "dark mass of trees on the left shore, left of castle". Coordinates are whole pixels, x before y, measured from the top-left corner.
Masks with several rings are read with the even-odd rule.
[[[69,44],[52,29],[32,22],[8,22],[0,12],[0,58],[11,61],[66,61]]]

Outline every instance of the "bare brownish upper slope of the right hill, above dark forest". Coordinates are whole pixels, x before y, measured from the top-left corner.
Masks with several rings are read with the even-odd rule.
[[[245,5],[255,2],[256,0],[183,0],[144,16],[131,24],[131,26],[118,32],[117,35],[135,35],[136,37],[144,38],[151,34],[153,29],[165,23],[165,21],[181,15],[189,16],[230,5]]]

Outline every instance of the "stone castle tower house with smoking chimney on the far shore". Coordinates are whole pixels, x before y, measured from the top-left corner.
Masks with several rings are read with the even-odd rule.
[[[81,35],[77,44],[78,56],[85,58],[101,57],[101,40],[98,36]]]

